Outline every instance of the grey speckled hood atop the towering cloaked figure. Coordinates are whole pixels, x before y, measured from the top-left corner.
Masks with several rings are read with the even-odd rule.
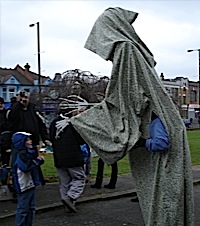
[[[154,67],[156,62],[153,54],[132,26],[137,16],[138,13],[119,7],[106,9],[96,20],[84,47],[104,60],[112,61],[117,43],[132,42],[140,49],[148,63]]]

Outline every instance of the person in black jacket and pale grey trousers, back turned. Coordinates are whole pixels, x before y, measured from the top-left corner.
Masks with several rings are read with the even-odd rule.
[[[59,177],[61,201],[66,210],[76,213],[76,200],[85,187],[84,162],[80,147],[85,141],[70,123],[73,110],[62,107],[61,103],[58,117],[50,124],[50,140]]]

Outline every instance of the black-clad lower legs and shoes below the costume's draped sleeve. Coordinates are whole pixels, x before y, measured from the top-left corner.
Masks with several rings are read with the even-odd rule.
[[[103,171],[104,171],[104,162],[101,158],[98,159],[98,168],[97,168],[97,175],[96,175],[96,181],[94,184],[92,184],[91,188],[101,188],[101,184],[103,181]],[[111,177],[108,184],[104,185],[104,188],[108,189],[115,189],[115,185],[117,183],[117,173],[118,173],[118,167],[117,162],[111,164]]]

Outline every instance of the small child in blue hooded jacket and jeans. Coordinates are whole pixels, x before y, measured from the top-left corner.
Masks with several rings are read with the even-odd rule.
[[[13,164],[13,182],[17,192],[15,226],[32,226],[35,216],[35,187],[44,185],[40,166],[44,158],[38,156],[31,134],[18,132],[13,135],[13,146],[17,150]]]

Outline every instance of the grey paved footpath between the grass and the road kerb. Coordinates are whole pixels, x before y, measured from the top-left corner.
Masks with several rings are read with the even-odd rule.
[[[104,184],[108,183],[109,178],[105,178],[102,189],[90,188],[92,180],[86,184],[82,196],[78,203],[92,202],[102,199],[114,199],[116,197],[132,196],[136,197],[136,189],[131,174],[119,175],[116,189],[105,189]],[[193,183],[200,184],[200,166],[193,167]],[[53,210],[62,205],[58,190],[58,183],[48,183],[44,187],[37,188],[36,191],[36,213]],[[0,202],[0,220],[15,215],[16,203],[11,200]]]

